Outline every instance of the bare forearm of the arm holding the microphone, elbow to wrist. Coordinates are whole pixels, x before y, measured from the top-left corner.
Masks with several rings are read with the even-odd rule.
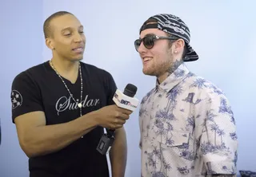
[[[87,114],[64,124],[30,128],[22,141],[23,150],[30,157],[61,150],[97,126],[92,116]]]

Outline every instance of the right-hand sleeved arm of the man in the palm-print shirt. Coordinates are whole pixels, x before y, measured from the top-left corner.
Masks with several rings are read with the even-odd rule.
[[[206,93],[198,105],[197,138],[206,176],[235,176],[238,142],[234,115],[223,94]]]

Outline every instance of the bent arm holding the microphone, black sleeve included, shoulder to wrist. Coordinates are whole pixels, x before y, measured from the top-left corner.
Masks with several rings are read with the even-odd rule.
[[[28,73],[15,77],[10,97],[18,141],[28,157],[65,148],[97,126],[91,119],[94,112],[65,124],[46,125],[41,92]]]

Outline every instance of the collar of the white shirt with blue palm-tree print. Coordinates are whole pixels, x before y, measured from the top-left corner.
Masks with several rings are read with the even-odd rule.
[[[156,81],[156,88],[161,88],[166,92],[169,92],[174,86],[178,85],[182,80],[184,80],[187,75],[190,73],[189,69],[186,68],[186,65],[182,63],[178,66],[178,69],[171,73],[165,81],[159,85],[158,80]]]

